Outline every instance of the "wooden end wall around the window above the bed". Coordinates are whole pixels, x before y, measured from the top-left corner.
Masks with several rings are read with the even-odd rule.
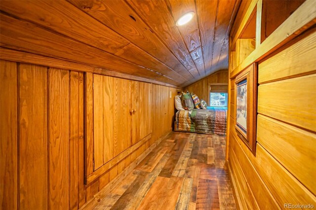
[[[186,87],[185,91],[188,90],[190,93],[195,93],[199,99],[203,99],[208,104],[210,83],[228,83],[228,70],[221,70],[213,73]]]

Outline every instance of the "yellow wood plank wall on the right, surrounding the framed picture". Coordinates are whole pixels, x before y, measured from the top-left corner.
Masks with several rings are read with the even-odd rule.
[[[315,2],[306,1],[302,6],[293,15],[305,20]],[[237,15],[237,20],[242,18]],[[291,16],[283,26],[257,45],[239,67],[230,69],[228,161],[240,209],[285,209],[284,204],[316,206],[316,32],[301,23],[296,37],[290,36],[286,26],[295,28]],[[281,48],[272,46],[274,52],[263,55],[269,51],[266,47],[271,40],[279,39],[284,30],[288,35],[281,41],[286,44]],[[234,103],[235,77],[242,66],[252,62],[258,62],[255,155],[237,135]]]

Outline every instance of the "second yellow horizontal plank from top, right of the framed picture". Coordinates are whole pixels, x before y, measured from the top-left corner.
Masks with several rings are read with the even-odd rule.
[[[259,85],[258,112],[316,132],[315,81],[311,74]]]

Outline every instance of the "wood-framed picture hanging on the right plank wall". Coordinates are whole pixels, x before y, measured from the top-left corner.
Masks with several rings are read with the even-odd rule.
[[[237,135],[255,154],[257,119],[257,68],[256,63],[241,71],[235,80]]]

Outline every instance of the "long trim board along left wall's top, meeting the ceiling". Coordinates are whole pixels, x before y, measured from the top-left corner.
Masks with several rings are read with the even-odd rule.
[[[33,53],[12,50],[8,48],[4,48],[4,47],[0,47],[0,59],[6,60],[6,61],[14,61],[14,62],[20,62],[20,63],[26,63],[26,64],[36,64],[36,65],[41,65],[41,66],[48,66],[48,67],[67,69],[67,70],[92,72],[92,73],[102,74],[106,76],[113,76],[113,77],[118,77],[122,79],[136,80],[140,82],[148,82],[148,83],[153,83],[153,84],[162,85],[166,87],[182,89],[179,86],[171,85],[171,84],[160,82],[153,79],[147,79],[140,76],[120,73],[113,70],[106,70],[99,67],[74,63],[70,61],[64,61],[64,60],[37,55]]]

